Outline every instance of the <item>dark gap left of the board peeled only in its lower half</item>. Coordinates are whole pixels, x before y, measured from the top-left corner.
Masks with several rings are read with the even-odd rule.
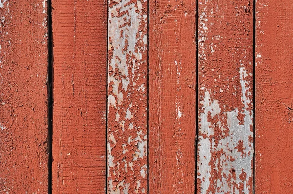
[[[198,132],[199,132],[199,125],[198,125],[198,0],[196,0],[196,17],[195,17],[195,44],[196,44],[196,86],[195,86],[195,124],[196,124],[196,136],[195,136],[195,188],[194,194],[197,194],[197,150],[198,150]]]

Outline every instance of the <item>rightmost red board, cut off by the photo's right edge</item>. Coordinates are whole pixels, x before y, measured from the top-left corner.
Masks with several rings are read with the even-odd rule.
[[[293,193],[293,0],[256,2],[255,193]]]

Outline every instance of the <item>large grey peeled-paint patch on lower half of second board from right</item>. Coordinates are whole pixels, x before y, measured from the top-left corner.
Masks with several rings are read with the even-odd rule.
[[[200,103],[203,105],[203,113],[200,114],[201,135],[199,136],[199,170],[198,176],[201,179],[201,193],[208,194],[211,179],[211,166],[210,162],[215,162],[216,174],[219,175],[216,179],[216,191],[219,193],[233,192],[241,194],[244,192],[248,194],[252,188],[249,184],[252,176],[252,155],[253,144],[251,138],[253,133],[252,127],[252,111],[249,109],[251,103],[250,88],[247,87],[248,81],[245,78],[248,76],[245,69],[242,67],[239,70],[240,84],[242,88],[242,102],[244,108],[238,108],[223,112],[221,116],[220,105],[218,100],[211,99],[209,91],[206,90],[204,101]],[[238,119],[238,115],[244,115],[244,123]],[[209,122],[210,119],[213,123]],[[226,123],[225,123],[226,122]],[[214,128],[217,127],[221,130],[223,137],[215,143]],[[236,147],[241,142],[241,151]],[[219,166],[222,169],[219,169]],[[225,168],[224,168],[225,167]],[[235,172],[235,176],[231,175],[231,171]],[[241,176],[244,177],[241,177]]]

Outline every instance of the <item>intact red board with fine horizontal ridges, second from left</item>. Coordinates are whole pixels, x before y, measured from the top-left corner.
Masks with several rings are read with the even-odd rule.
[[[105,193],[107,6],[52,0],[53,193]]]

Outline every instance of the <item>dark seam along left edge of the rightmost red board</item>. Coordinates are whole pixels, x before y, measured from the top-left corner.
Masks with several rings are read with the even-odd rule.
[[[255,194],[255,88],[256,88],[256,86],[255,86],[255,19],[256,19],[256,10],[255,10],[255,7],[256,7],[256,5],[255,5],[255,3],[256,3],[256,1],[255,0],[253,0],[253,45],[252,45],[252,50],[253,50],[253,62],[252,62],[252,66],[253,66],[253,70],[252,70],[252,75],[253,75],[253,91],[252,91],[252,93],[253,93],[253,110],[252,110],[252,112],[253,112],[253,185],[252,185],[252,187],[253,187],[253,194]]]

